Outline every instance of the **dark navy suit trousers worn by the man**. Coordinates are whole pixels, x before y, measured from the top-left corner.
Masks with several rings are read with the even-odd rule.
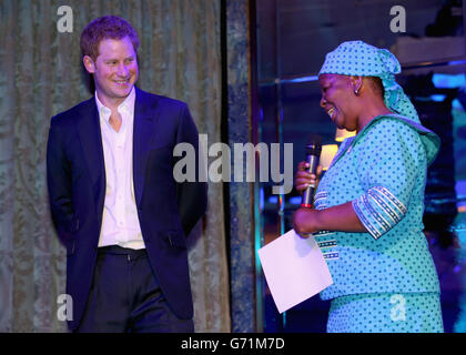
[[[77,333],[192,333],[192,320],[170,308],[145,250],[99,247]]]

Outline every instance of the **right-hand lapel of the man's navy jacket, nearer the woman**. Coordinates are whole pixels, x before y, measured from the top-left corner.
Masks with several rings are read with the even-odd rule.
[[[140,206],[145,182],[145,165],[148,163],[151,143],[159,120],[156,101],[144,91],[135,88],[134,129],[133,129],[133,180],[136,206]]]

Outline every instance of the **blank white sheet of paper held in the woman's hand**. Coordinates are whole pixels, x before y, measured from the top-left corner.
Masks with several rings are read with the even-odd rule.
[[[333,284],[327,263],[312,235],[303,239],[291,230],[257,253],[280,313]]]

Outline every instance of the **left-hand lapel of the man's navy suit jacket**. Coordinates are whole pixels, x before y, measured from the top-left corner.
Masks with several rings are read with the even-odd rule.
[[[95,213],[101,216],[105,195],[105,165],[103,161],[102,135],[95,99],[91,98],[78,122],[79,139],[92,182]]]

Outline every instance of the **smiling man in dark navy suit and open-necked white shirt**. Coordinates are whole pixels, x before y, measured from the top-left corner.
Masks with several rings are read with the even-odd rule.
[[[74,332],[194,329],[185,236],[205,212],[206,184],[174,179],[173,149],[197,152],[199,135],[185,103],[134,87],[138,47],[121,18],[89,23],[81,50],[95,95],[50,125],[50,206]]]

